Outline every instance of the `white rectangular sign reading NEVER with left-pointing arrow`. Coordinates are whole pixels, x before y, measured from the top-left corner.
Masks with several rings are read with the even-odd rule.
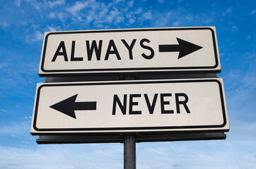
[[[37,84],[31,134],[228,131],[222,79]]]

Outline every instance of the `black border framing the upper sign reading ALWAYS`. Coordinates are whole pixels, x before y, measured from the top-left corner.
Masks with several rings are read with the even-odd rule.
[[[44,65],[45,65],[45,53],[46,53],[46,48],[47,48],[47,39],[50,35],[59,35],[59,34],[86,34],[86,33],[107,33],[107,32],[147,32],[147,31],[166,31],[166,30],[210,30],[211,35],[212,35],[212,40],[214,44],[214,55],[215,55],[215,61],[216,64],[214,66],[201,66],[201,67],[170,67],[170,68],[110,68],[110,69],[72,69],[72,70],[45,70]],[[40,65],[40,69],[44,73],[40,73],[40,75],[47,75],[47,73],[50,73],[50,75],[54,75],[52,73],[57,73],[57,74],[69,74],[69,73],[112,73],[112,71],[115,71],[116,73],[119,73],[117,71],[129,71],[129,72],[136,72],[136,70],[143,71],[145,72],[149,70],[163,70],[163,71],[197,71],[197,69],[214,69],[219,65],[219,60],[218,60],[218,52],[216,49],[216,38],[214,34],[214,30],[211,29],[211,27],[177,27],[177,28],[149,28],[149,29],[127,29],[127,30],[88,30],[88,31],[71,31],[71,32],[50,32],[45,36],[45,43],[43,47],[43,53],[42,53],[42,62]],[[190,70],[184,70],[184,69],[190,69]],[[202,70],[198,70],[202,71]],[[219,73],[221,70],[207,70],[211,72],[216,72]]]

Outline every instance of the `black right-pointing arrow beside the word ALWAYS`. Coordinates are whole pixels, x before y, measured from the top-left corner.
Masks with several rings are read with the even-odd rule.
[[[202,46],[192,44],[185,40],[179,39],[178,37],[176,37],[176,39],[178,40],[179,44],[159,44],[159,52],[180,51],[180,54],[178,56],[178,59],[179,59],[188,54],[191,54],[194,51],[197,51],[203,48]]]

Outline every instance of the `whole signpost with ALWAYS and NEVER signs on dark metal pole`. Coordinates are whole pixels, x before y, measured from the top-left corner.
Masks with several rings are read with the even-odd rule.
[[[45,32],[30,132],[38,144],[123,142],[135,169],[136,142],[226,139],[220,72],[215,27]]]

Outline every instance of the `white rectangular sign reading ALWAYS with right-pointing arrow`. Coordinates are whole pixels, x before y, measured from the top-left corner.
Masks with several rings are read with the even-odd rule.
[[[215,27],[45,32],[40,76],[221,71]]]

